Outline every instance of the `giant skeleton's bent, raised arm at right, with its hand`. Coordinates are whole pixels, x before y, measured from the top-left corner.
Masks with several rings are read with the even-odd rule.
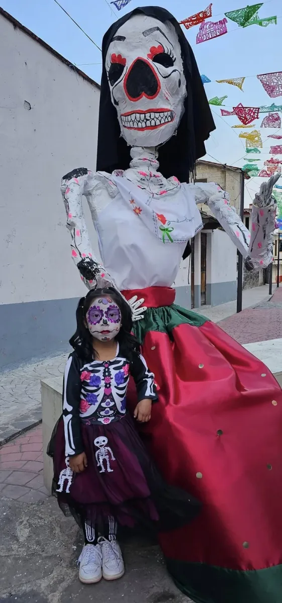
[[[277,182],[277,175],[269,178],[268,183],[263,183],[260,193],[255,195],[251,233],[242,223],[235,208],[230,206],[228,193],[219,185],[213,182],[188,185],[192,188],[196,203],[206,203],[210,207],[219,224],[242,253],[246,260],[246,268],[249,270],[266,268],[273,259],[272,233],[275,228],[276,204],[271,197],[271,192],[275,182]]]

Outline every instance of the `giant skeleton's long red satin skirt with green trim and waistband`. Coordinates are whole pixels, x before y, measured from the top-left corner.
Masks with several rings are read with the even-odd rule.
[[[271,371],[174,289],[124,291],[159,401],[142,428],[163,477],[201,500],[160,535],[168,569],[197,603],[282,601],[282,391]],[[134,384],[128,401],[136,402]]]

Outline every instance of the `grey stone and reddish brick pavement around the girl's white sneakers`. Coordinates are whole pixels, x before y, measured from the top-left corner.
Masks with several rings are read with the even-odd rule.
[[[41,426],[0,450],[0,603],[192,603],[169,578],[155,541],[128,532],[120,538],[124,578],[81,584],[82,535],[48,496],[42,467]]]

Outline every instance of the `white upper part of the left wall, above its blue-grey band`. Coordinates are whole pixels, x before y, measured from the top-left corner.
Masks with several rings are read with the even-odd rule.
[[[0,48],[0,302],[77,297],[60,179],[95,169],[99,89],[1,15]]]

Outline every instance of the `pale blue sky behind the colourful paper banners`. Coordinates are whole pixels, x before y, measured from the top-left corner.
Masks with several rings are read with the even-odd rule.
[[[131,0],[127,7],[117,11],[114,5],[109,5],[110,0],[59,0],[64,9],[80,24],[92,40],[101,48],[102,37],[108,27],[125,13],[137,6],[160,5],[167,8],[178,21],[189,17],[207,7],[209,0]],[[255,0],[254,0],[255,1]],[[251,4],[251,2],[246,2]],[[219,21],[224,18],[224,12],[236,10],[246,5],[244,0],[214,0],[212,17],[210,21]],[[1,6],[12,14],[20,23],[45,40],[52,48],[60,52],[70,62],[79,66],[93,80],[99,83],[101,78],[101,52],[87,39],[78,27],[70,21],[69,17],[61,10],[54,0],[2,0]],[[207,75],[211,83],[205,84],[208,99],[214,96],[227,95],[224,101],[225,108],[242,103],[246,107],[259,107],[262,105],[282,104],[282,96],[269,98],[257,79],[257,74],[282,71],[282,4],[281,0],[267,0],[260,8],[261,17],[276,15],[277,25],[258,27],[252,25],[240,28],[228,19],[228,33],[217,39],[209,40],[196,45],[196,34],[199,25],[185,30],[187,39],[193,48],[196,61],[201,74]],[[218,84],[215,80],[226,78],[246,77],[243,92],[229,84]],[[242,167],[246,160],[245,140],[239,138],[240,128],[233,129],[232,125],[240,123],[236,116],[221,117],[219,107],[211,106],[216,130],[206,143],[206,160],[217,161]],[[255,122],[259,127],[263,117]],[[282,113],[280,113],[282,118]],[[251,131],[251,130],[245,130]],[[258,156],[263,167],[263,160],[268,159],[271,144],[282,141],[269,139],[268,134],[280,131],[262,128],[263,148]],[[282,159],[282,157],[281,157]],[[252,178],[245,187],[245,206],[252,202],[254,192],[258,191],[262,178]],[[278,184],[282,183],[278,182]]]

